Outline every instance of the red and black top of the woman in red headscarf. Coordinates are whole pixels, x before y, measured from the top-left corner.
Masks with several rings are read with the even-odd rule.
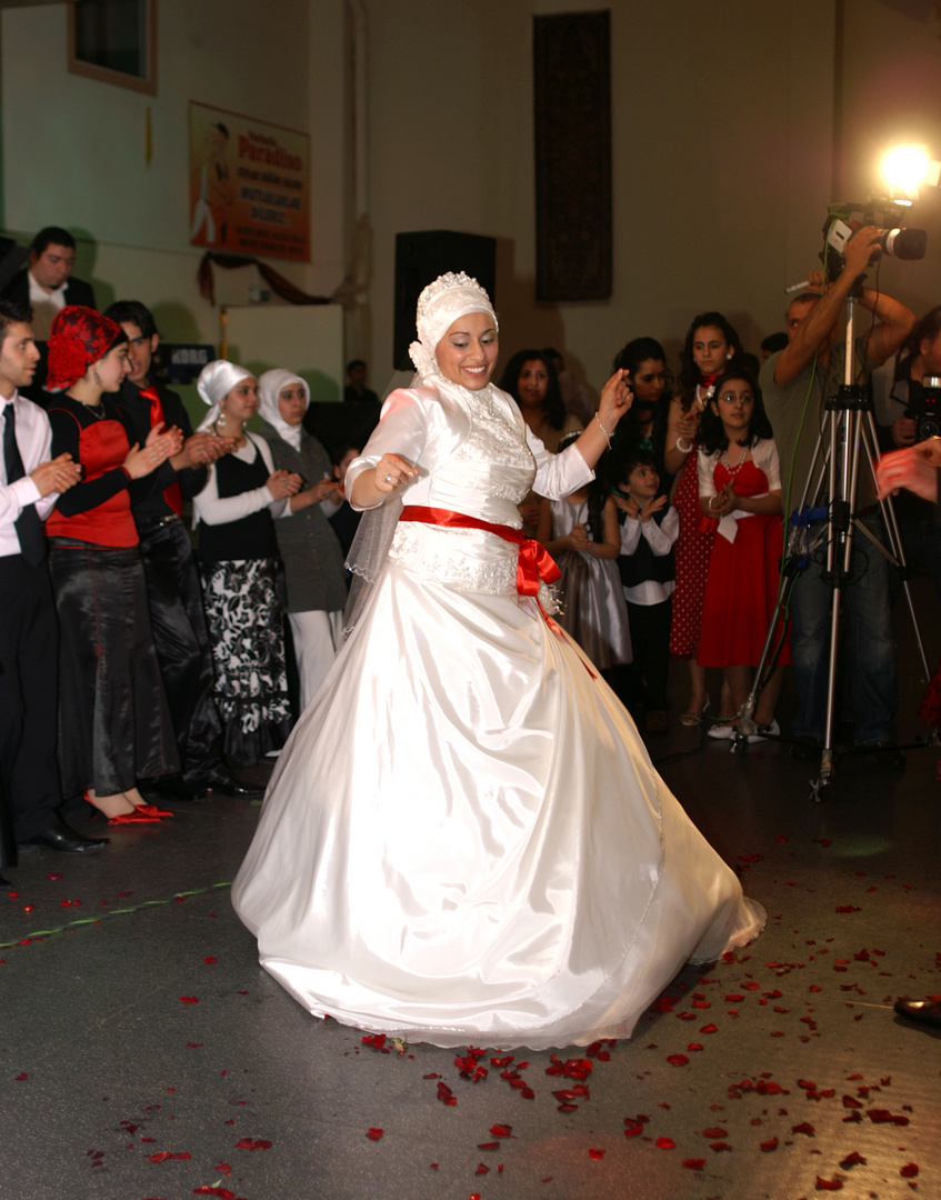
[[[49,538],[74,538],[95,546],[137,546],[131,516],[131,476],[121,466],[131,449],[118,409],[102,398],[98,408],[71,396],[52,397],[49,424],[53,455],[72,455],[82,463],[82,482],[64,492],[46,521]]]

